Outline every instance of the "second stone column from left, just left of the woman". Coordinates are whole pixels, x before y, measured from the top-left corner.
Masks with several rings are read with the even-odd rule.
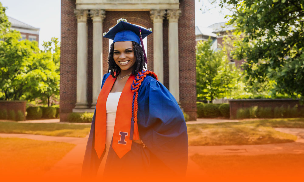
[[[93,20],[93,95],[92,106],[94,109],[102,83],[102,21],[105,18],[105,10],[91,10]]]

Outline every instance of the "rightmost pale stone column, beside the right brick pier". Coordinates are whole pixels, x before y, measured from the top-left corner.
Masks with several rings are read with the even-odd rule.
[[[178,64],[178,18],[179,9],[167,10],[169,20],[168,45],[169,45],[169,91],[179,102],[179,64]]]

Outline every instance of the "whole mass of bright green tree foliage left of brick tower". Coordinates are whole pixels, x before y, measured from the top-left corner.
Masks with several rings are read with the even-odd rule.
[[[58,39],[44,42],[44,51],[36,41],[20,40],[20,33],[10,29],[1,3],[0,22],[0,99],[49,100],[53,94],[59,96]]]

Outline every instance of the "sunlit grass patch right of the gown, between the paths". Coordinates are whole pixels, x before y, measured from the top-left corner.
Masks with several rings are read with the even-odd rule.
[[[304,119],[248,120],[231,123],[188,124],[189,145],[256,145],[285,143],[297,139],[272,127],[304,126]]]

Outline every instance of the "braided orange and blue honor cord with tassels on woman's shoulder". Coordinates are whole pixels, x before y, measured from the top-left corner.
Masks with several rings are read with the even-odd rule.
[[[131,91],[134,92],[133,99],[132,99],[132,118],[131,118],[131,130],[130,130],[130,140],[138,140],[139,139],[139,133],[138,133],[138,125],[137,125],[137,111],[138,111],[138,89],[141,85],[141,82],[143,79],[150,75],[154,79],[157,79],[157,75],[150,71],[150,70],[143,70],[141,72],[138,72],[135,80],[133,81],[131,85]]]

